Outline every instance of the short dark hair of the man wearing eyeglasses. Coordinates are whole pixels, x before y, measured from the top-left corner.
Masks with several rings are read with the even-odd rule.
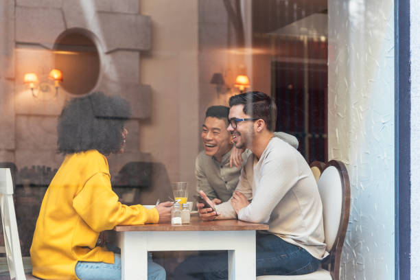
[[[229,106],[244,105],[244,113],[251,117],[263,119],[266,122],[267,129],[274,131],[276,128],[277,107],[272,102],[271,97],[261,91],[248,91],[233,95],[229,99]]]

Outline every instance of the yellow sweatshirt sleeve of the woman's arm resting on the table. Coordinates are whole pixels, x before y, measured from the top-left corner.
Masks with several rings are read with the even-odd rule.
[[[98,172],[86,181],[73,198],[73,208],[84,222],[95,231],[113,229],[115,226],[159,222],[156,208],[142,205],[123,205],[111,189],[109,175]]]

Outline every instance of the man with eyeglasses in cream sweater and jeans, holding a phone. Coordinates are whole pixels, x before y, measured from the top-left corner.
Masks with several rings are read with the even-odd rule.
[[[199,209],[202,220],[239,219],[269,224],[257,231],[259,275],[304,275],[318,269],[325,251],[323,208],[318,187],[303,156],[273,137],[277,109],[271,98],[253,91],[229,100],[229,127],[235,147],[253,154],[242,168],[229,201],[215,211]],[[227,279],[227,257],[208,259],[206,279]]]

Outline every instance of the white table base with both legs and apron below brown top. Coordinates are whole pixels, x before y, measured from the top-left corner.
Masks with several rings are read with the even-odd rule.
[[[119,247],[122,280],[148,279],[148,250],[226,249],[231,249],[229,280],[255,280],[255,231],[125,231],[119,233]]]

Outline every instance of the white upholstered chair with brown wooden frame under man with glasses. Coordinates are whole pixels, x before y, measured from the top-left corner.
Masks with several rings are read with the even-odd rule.
[[[329,161],[318,181],[323,202],[325,243],[329,257],[316,272],[307,275],[265,275],[257,280],[338,280],[340,259],[350,214],[350,183],[345,165]]]

